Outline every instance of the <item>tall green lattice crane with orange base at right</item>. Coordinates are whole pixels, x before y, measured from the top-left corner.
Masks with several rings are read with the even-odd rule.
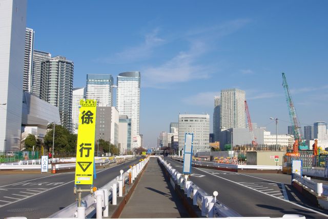
[[[286,101],[289,109],[289,116],[291,119],[291,123],[294,127],[293,134],[294,134],[295,142],[293,145],[293,152],[298,153],[298,149],[304,150],[304,149],[309,149],[309,147],[305,145],[302,129],[299,126],[300,122],[296,115],[296,110],[292,100],[292,95],[289,90],[288,83],[284,73],[282,73],[282,86],[284,88],[285,95],[286,95]]]

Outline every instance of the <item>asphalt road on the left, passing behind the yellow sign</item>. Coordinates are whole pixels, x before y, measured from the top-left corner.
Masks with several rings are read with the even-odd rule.
[[[129,169],[140,158],[127,163],[97,169],[94,186],[101,187],[119,176],[119,170]],[[75,172],[56,174],[2,174],[0,175],[0,218],[25,216],[37,219],[50,216],[75,202],[73,193]],[[90,186],[81,186],[90,188]],[[88,193],[83,193],[83,196]]]

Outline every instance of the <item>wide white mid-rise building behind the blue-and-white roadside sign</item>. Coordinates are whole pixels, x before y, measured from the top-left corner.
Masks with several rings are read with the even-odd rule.
[[[193,151],[209,151],[210,115],[180,114],[179,115],[179,150],[185,146],[185,134],[193,133]]]

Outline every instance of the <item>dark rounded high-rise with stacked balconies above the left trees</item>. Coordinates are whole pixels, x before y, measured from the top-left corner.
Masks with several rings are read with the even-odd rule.
[[[42,62],[40,99],[59,108],[61,124],[72,132],[73,61],[55,56]]]

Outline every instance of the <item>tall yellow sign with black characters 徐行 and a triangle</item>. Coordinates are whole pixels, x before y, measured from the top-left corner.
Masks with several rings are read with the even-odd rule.
[[[96,128],[96,100],[80,100],[75,184],[92,185]]]

